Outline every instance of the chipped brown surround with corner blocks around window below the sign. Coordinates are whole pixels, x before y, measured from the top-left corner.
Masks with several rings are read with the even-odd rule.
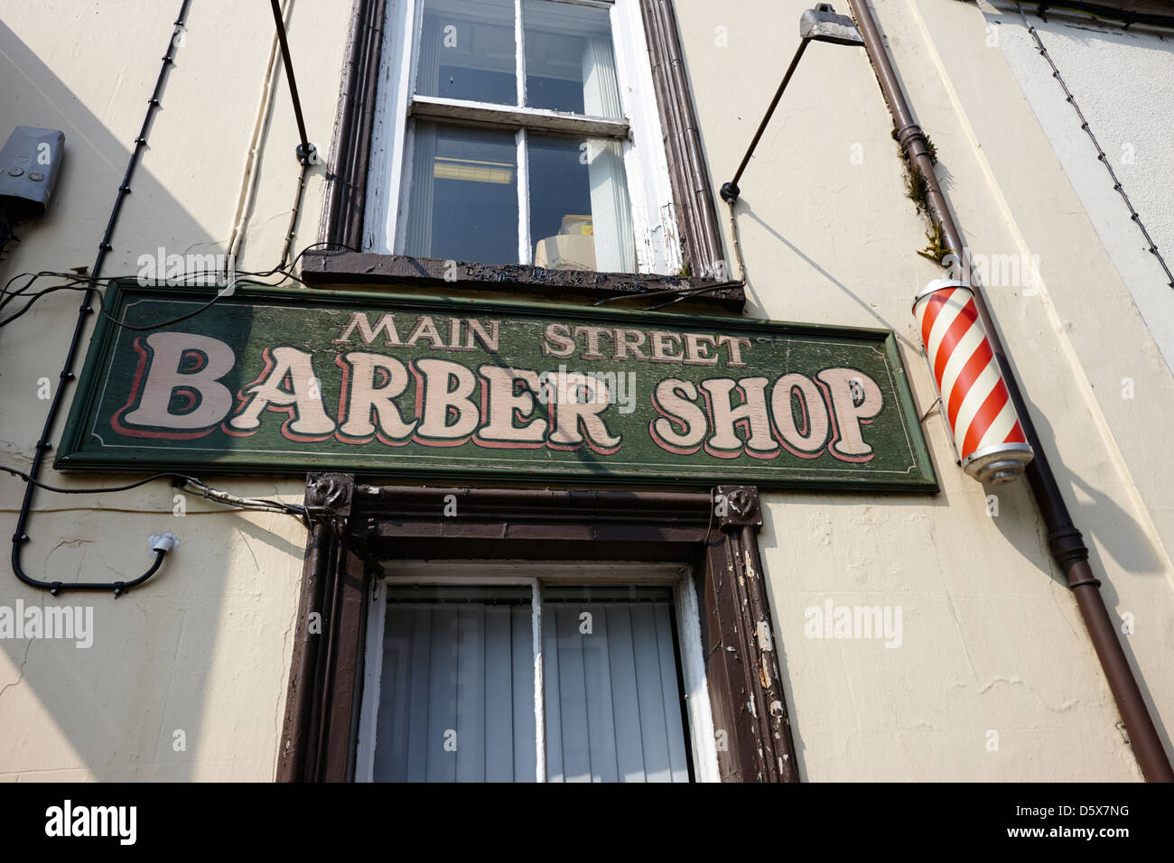
[[[456,497],[459,518],[444,515],[447,495]],[[306,479],[305,501],[315,525],[277,781],[353,778],[372,573],[397,558],[691,564],[714,728],[726,731],[718,775],[723,782],[798,781],[754,486],[708,494],[429,488],[317,473]]]

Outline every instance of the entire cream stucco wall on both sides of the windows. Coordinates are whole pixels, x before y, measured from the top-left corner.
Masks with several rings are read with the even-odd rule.
[[[715,183],[741,157],[807,5],[677,4]],[[291,6],[310,137],[325,147],[349,4]],[[1166,546],[1174,508],[1162,490],[1174,484],[1174,461],[1161,437],[1163,417],[1174,416],[1169,370],[1005,55],[986,43],[983,13],[954,0],[876,6],[970,247],[1040,256],[1038,292],[1006,288],[990,298],[1106,601],[1134,615],[1126,650],[1169,750],[1174,594]],[[50,214],[20,231],[5,278],[93,262],[177,8],[52,0],[33,9],[0,0],[8,82],[0,116],[9,126],[62,129],[68,153]],[[160,245],[224,250],[272,39],[265,5],[193,5],[106,275],[134,272],[137,256]],[[285,82],[276,85],[242,269],[277,262],[294,198],[297,135]],[[904,197],[890,129],[864,52],[812,46],[742,182],[747,313],[893,329],[924,412],[933,385],[909,306],[939,270],[915,254],[925,224]],[[297,248],[316,238],[321,181],[319,167]],[[28,465],[47,409],[38,378],[56,380],[75,313],[75,296],[54,295],[0,331],[8,464]],[[1121,399],[1124,377],[1143,396]],[[763,557],[804,778],[1139,778],[1026,486],[984,490],[953,465],[938,417],[924,427],[942,483],[933,498],[765,497]],[[42,479],[124,481],[53,471]],[[22,484],[0,483],[7,537]],[[218,485],[301,499],[297,481]],[[989,493],[998,495],[994,518]],[[94,606],[92,648],[0,640],[0,777],[272,776],[304,531],[289,518],[227,513],[195,498],[176,518],[171,494],[163,484],[119,495],[38,494],[25,553],[34,577],[136,575],[149,562],[147,535],[160,530],[175,531],[181,546],[160,577],[126,599],[62,598]],[[0,604],[16,599],[47,598],[0,573]],[[805,638],[804,611],[828,599],[900,606],[900,647]],[[176,730],[185,733],[185,751],[173,747]],[[989,750],[990,730],[998,731],[997,751]]]

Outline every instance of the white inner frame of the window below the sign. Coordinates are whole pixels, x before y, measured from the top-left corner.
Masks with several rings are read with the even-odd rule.
[[[706,658],[701,642],[701,615],[693,569],[682,564],[625,562],[544,562],[533,560],[403,560],[387,564],[382,578],[372,580],[367,609],[366,645],[363,670],[363,694],[359,707],[358,742],[355,757],[355,781],[375,781],[375,746],[383,682],[383,636],[387,613],[389,581],[417,585],[460,585],[486,587],[526,585],[531,587],[531,620],[534,625],[534,719],[535,778],[546,782],[546,709],[542,680],[542,605],[544,585],[664,585],[673,588],[676,613],[677,650],[680,652],[682,693],[689,719],[689,746],[696,782],[720,782],[714,717],[706,682]]]

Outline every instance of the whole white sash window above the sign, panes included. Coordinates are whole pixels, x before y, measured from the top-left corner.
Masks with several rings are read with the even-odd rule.
[[[639,0],[389,0],[364,250],[683,267]]]

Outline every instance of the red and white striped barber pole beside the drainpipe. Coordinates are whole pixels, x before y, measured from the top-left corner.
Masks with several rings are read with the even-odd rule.
[[[963,470],[1010,483],[1034,457],[964,282],[938,278],[913,298],[913,317]]]

